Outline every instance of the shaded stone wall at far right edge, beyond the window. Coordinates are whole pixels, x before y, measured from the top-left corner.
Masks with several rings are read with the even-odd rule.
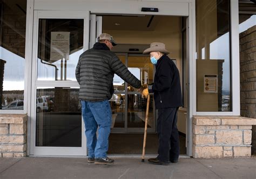
[[[256,118],[256,25],[240,33],[241,116]],[[256,154],[256,126],[252,127],[252,153]]]

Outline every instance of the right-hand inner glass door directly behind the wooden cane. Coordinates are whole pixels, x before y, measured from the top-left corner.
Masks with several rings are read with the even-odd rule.
[[[149,57],[129,54],[128,69],[142,81],[142,84],[153,82],[154,66]],[[150,96],[147,131],[155,132],[155,113],[153,95]],[[132,86],[127,87],[127,132],[144,132],[147,99],[142,98],[140,92]]]

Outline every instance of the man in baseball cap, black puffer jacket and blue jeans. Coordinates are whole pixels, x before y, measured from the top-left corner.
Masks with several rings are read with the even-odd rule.
[[[114,45],[116,43],[113,38],[107,33],[102,33],[93,48],[80,55],[76,67],[89,163],[112,164],[114,162],[106,156],[112,123],[109,99],[114,92],[114,73],[142,91],[140,80],[134,77],[116,54],[110,51]]]

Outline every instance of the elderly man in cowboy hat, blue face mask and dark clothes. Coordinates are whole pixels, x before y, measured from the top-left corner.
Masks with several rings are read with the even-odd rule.
[[[182,106],[179,71],[167,56],[169,52],[163,43],[151,43],[143,54],[150,54],[151,63],[156,65],[153,85],[143,90],[147,97],[154,93],[154,103],[158,109],[157,133],[159,140],[158,156],[149,159],[152,164],[168,165],[179,159],[179,133],[177,111]]]

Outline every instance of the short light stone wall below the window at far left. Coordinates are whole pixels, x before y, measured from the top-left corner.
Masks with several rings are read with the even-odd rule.
[[[26,156],[26,115],[1,114],[0,157]]]

